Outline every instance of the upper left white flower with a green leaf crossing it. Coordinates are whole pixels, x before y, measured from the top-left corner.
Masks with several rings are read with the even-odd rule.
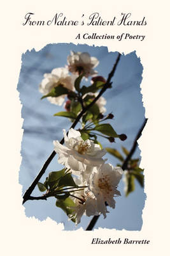
[[[69,90],[74,90],[74,80],[77,76],[69,75],[67,68],[54,68],[51,73],[44,74],[44,79],[39,84],[39,92],[46,95],[51,92],[51,90],[62,84]],[[64,102],[66,95],[60,95],[59,97],[47,97],[47,99],[56,105],[61,106]]]

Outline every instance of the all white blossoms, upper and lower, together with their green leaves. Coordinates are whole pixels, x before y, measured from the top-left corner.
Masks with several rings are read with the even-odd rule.
[[[50,74],[45,74],[39,85],[39,91],[44,95],[42,98],[47,97],[53,104],[64,105],[66,111],[56,113],[55,116],[65,116],[73,122],[81,110],[84,111],[82,116],[80,114],[79,131],[71,128],[66,133],[64,129],[64,145],[58,140],[53,141],[58,163],[64,165],[64,169],[49,174],[44,184],[39,183],[41,191],[47,189],[46,195],[55,196],[57,207],[62,208],[76,224],[80,223],[83,214],[103,214],[106,218],[107,206],[115,208],[114,198],[120,196],[117,186],[123,170],[106,163],[106,150],[101,148],[97,136],[114,142],[115,138],[122,140],[124,134],[117,134],[110,124],[103,123],[112,119],[113,115],[103,115],[106,112],[106,100],[97,97],[98,91],[107,83],[94,70],[98,64],[97,58],[88,52],[71,51],[67,57],[67,66],[54,68]],[[90,86],[80,86],[80,82],[89,77]],[[93,101],[94,104],[88,109]]]

